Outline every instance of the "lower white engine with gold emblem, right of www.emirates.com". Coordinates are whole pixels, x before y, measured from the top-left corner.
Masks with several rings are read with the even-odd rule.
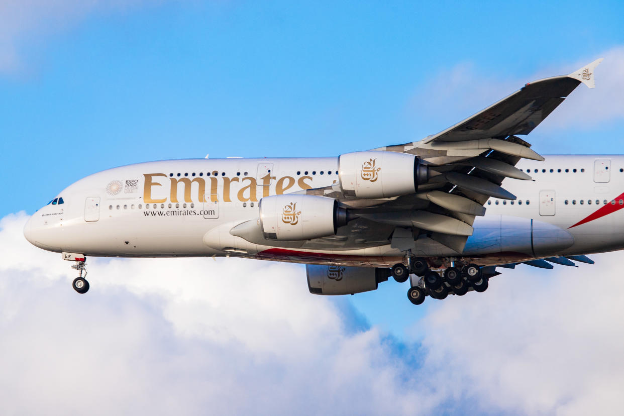
[[[297,241],[332,236],[346,225],[346,209],[338,201],[317,195],[273,195],[260,200],[265,238]]]

